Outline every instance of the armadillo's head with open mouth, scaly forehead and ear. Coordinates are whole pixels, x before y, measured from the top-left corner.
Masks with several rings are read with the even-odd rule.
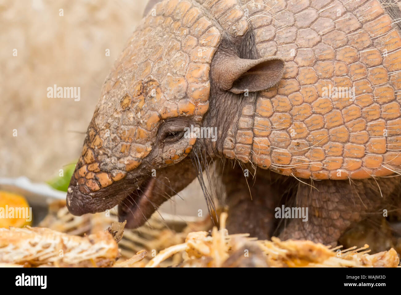
[[[247,31],[238,17],[237,30]],[[68,189],[72,214],[119,204],[127,226],[143,224],[198,175],[192,156],[211,138],[199,138],[196,127],[220,127],[205,120],[209,105],[281,79],[281,59],[243,58],[236,32],[223,32],[192,0],[166,0],[148,12],[103,85]]]

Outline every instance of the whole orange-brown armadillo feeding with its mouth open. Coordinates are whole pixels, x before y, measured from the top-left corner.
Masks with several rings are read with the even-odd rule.
[[[151,1],[105,79],[69,211],[118,205],[138,227],[210,161],[229,232],[335,243],[398,209],[399,19],[388,0]],[[308,218],[277,218],[290,203]]]

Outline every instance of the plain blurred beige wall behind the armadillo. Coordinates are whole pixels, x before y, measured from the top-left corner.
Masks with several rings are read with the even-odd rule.
[[[47,181],[77,160],[101,85],[146,3],[0,0],[0,177]],[[81,87],[81,100],[47,98],[54,84]],[[198,183],[180,195],[168,211],[205,208]]]

